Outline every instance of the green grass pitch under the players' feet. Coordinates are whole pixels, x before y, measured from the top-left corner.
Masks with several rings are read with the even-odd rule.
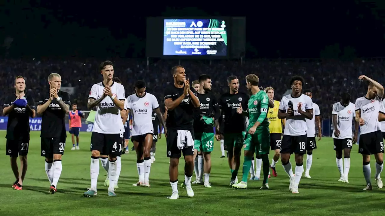
[[[210,182],[212,188],[193,185],[195,196],[187,198],[179,187],[180,198],[169,200],[171,186],[168,178],[169,162],[166,158],[166,140],[157,143],[156,161],[152,164],[150,188],[132,186],[137,182],[136,157],[133,152],[122,155],[122,172],[117,197],[108,197],[103,186],[106,173],[100,166],[98,196],[84,198],[90,186],[90,133],[80,133],[80,150],[71,151],[70,136],[63,156],[63,171],[57,185],[57,193],[49,194],[49,181],[44,170],[44,158],[40,156],[40,131],[31,131],[28,153],[28,171],[23,190],[11,188],[15,181],[5,155],[5,138],[2,138],[0,158],[0,215],[381,215],[384,213],[385,189],[375,187],[375,167],[372,157],[373,191],[362,191],[365,179],[362,174],[362,157],[358,146],[353,145],[349,182],[339,183],[333,140],[322,138],[313,151],[311,179],[303,177],[299,194],[288,190],[288,176],[278,162],[278,177],[269,179],[269,190],[260,190],[261,181],[249,181],[246,190],[229,187],[230,170],[227,158],[220,157],[219,142],[212,155]],[[5,137],[5,131],[0,131]],[[131,141],[130,141],[131,149]],[[270,154],[273,156],[273,152]],[[241,158],[243,161],[243,157]],[[305,162],[305,161],[304,161]],[[294,158],[291,158],[294,167]],[[306,163],[304,163],[305,165]],[[179,183],[184,179],[184,161],[179,164]],[[242,167],[242,166],[241,166]],[[239,171],[238,178],[241,178]],[[193,175],[193,180],[195,176]]]

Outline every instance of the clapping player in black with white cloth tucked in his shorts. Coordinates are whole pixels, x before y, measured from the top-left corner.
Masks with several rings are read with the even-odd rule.
[[[169,199],[178,199],[178,164],[184,155],[184,183],[187,196],[194,196],[191,177],[194,171],[194,109],[199,107],[199,99],[190,88],[189,79],[183,66],[171,69],[174,83],[164,90],[164,104],[167,106],[167,157],[170,158],[169,176],[172,194]]]

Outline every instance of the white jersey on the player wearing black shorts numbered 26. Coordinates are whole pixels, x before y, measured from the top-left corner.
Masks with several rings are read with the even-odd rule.
[[[342,106],[341,102],[337,102],[333,104],[333,111],[331,111],[332,115],[337,115],[337,128],[340,131],[340,136],[336,138],[333,134],[332,138],[335,139],[352,139],[353,131],[352,131],[352,121],[355,121],[356,112],[354,103],[350,102],[348,106]]]

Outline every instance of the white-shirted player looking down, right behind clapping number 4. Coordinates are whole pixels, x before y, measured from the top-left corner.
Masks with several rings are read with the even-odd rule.
[[[152,125],[152,111],[155,111],[159,121],[167,132],[159,103],[156,97],[146,92],[146,83],[138,80],[135,83],[135,94],[127,97],[127,107],[132,113],[132,136],[136,151],[136,166],[139,174],[139,181],[134,186],[149,187],[149,175],[151,169],[150,150],[154,136]]]

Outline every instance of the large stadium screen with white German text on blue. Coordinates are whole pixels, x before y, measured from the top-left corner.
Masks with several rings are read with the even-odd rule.
[[[147,18],[147,57],[231,58],[245,50],[246,19]]]

